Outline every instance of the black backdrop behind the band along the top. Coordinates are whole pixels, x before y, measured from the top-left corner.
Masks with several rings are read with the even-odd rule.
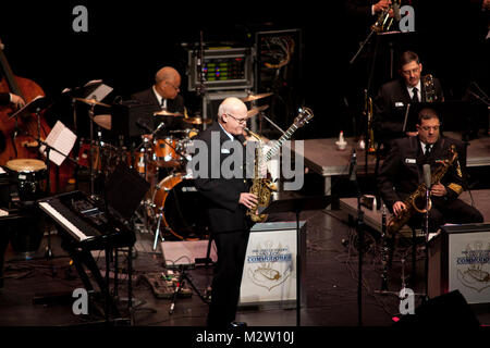
[[[311,108],[315,119],[297,137],[331,137],[340,129],[350,136],[360,124],[359,105],[372,45],[354,64],[348,61],[367,37],[373,18],[348,11],[346,2],[4,2],[0,8],[0,38],[11,67],[17,76],[39,84],[48,96],[102,79],[114,88],[108,102],[115,96],[128,99],[131,94],[149,87],[160,67],[173,65],[183,77],[181,94],[195,112],[198,98],[187,90],[183,42],[198,42],[203,30],[205,42],[247,47],[254,45],[256,32],[299,28],[302,60],[291,67],[297,74],[287,87],[297,107]],[[416,33],[396,49],[418,52],[424,72],[440,78],[446,99],[463,98],[471,80],[478,80],[489,94],[488,57],[478,53],[485,37],[478,5],[471,1],[408,2],[415,8]],[[72,29],[72,11],[77,4],[88,9],[88,33]],[[389,78],[388,48],[381,45],[380,52],[371,94]],[[290,120],[287,115],[274,117],[280,124]],[[57,110],[48,119],[70,125],[71,112]]]

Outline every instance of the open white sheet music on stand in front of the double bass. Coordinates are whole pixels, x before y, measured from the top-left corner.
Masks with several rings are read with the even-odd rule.
[[[70,130],[62,122],[58,121],[54,127],[49,133],[46,138],[46,144],[48,144],[53,149],[57,149],[61,153],[54,150],[49,151],[49,160],[57,165],[63,163],[66,156],[72,150],[76,141],[76,135]],[[40,146],[39,151],[46,157],[46,146]]]

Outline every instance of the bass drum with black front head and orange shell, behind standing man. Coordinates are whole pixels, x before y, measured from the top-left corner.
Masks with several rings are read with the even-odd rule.
[[[207,238],[207,223],[203,199],[194,179],[183,173],[163,178],[155,190],[154,212],[156,222],[161,216],[160,231],[169,232],[182,240]]]

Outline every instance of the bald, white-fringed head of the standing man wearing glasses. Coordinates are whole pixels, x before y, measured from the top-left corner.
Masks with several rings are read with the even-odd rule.
[[[238,98],[229,97],[218,108],[218,122],[233,135],[243,133],[247,119],[247,105]]]

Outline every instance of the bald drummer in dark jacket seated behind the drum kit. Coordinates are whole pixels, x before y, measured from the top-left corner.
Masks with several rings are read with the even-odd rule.
[[[155,111],[166,110],[172,113],[184,114],[184,98],[179,95],[181,88],[181,74],[172,66],[163,66],[155,75],[155,84],[143,91],[131,96],[142,103],[155,105]],[[180,117],[157,116],[164,122],[164,133],[179,128]]]

